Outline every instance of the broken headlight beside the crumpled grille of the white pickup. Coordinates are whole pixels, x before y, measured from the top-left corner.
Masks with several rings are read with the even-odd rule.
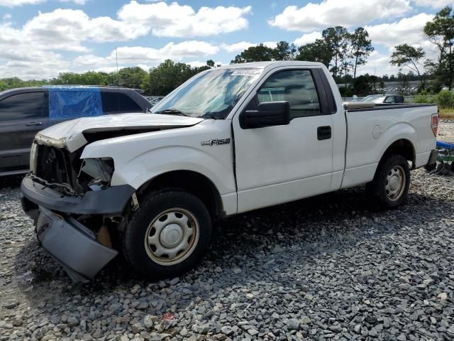
[[[114,160],[111,158],[85,158],[80,168],[79,178],[82,172],[92,179],[87,183],[91,190],[104,190],[114,173]]]

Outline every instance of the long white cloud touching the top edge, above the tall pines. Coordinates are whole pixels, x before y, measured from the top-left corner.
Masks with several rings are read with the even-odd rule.
[[[269,21],[287,31],[310,32],[331,26],[353,27],[375,20],[402,16],[411,10],[409,0],[324,0],[303,7],[287,6]]]

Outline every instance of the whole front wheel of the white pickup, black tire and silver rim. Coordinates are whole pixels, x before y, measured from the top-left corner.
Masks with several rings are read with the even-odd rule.
[[[195,195],[168,189],[140,202],[123,232],[123,254],[138,274],[168,278],[201,259],[211,242],[211,218]]]

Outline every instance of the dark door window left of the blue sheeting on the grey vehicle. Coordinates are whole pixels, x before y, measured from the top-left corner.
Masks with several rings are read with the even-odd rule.
[[[13,94],[0,101],[0,121],[43,117],[44,92]]]

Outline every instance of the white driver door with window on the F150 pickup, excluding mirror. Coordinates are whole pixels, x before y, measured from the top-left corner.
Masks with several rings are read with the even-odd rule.
[[[333,109],[326,104],[319,70],[272,72],[250,97],[243,112],[233,118],[238,212],[328,192]],[[245,110],[275,101],[290,103],[289,124],[241,128]]]

